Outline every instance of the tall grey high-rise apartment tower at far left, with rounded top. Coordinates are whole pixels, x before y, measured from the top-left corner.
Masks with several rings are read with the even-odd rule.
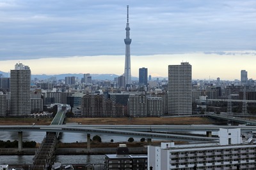
[[[31,71],[22,63],[16,64],[10,76],[10,115],[28,115],[31,113],[30,101]]]

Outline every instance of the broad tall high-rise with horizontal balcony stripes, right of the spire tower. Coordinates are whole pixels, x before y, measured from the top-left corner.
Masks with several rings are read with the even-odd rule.
[[[191,72],[188,62],[168,66],[168,114],[192,114]]]

